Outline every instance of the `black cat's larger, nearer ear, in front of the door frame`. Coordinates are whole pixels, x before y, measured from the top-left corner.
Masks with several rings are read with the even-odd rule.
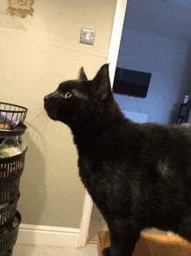
[[[101,100],[111,92],[109,79],[109,64],[104,64],[100,71],[96,74],[94,80],[96,86],[96,94]]]

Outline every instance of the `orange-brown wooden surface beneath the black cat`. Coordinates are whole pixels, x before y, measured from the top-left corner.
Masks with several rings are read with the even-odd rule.
[[[98,233],[98,255],[102,256],[102,250],[110,246],[109,232]],[[133,256],[190,256],[191,244],[180,237],[141,234],[136,243]]]

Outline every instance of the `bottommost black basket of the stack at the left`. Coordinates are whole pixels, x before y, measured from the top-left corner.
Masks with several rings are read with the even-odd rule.
[[[16,216],[10,226],[0,235],[0,256],[11,256],[16,244],[18,227],[21,223],[21,214],[16,211]]]

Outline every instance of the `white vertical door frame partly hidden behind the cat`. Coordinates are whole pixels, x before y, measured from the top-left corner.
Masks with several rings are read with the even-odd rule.
[[[111,41],[109,46],[109,75],[110,81],[113,86],[115,77],[115,67],[122,37],[122,27],[125,18],[126,6],[128,0],[117,0],[115,19],[113,24],[113,30],[111,35]],[[78,242],[78,247],[84,247],[87,242],[88,232],[89,232],[89,221],[91,217],[93,201],[89,196],[89,193],[85,191],[85,198],[82,209],[82,219],[80,224],[80,238]]]

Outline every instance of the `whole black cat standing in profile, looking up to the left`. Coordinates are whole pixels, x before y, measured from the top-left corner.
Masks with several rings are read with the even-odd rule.
[[[82,183],[109,226],[103,255],[131,256],[147,227],[191,241],[191,129],[125,118],[108,64],[93,80],[82,69],[79,80],[60,84],[44,108],[73,133]]]

